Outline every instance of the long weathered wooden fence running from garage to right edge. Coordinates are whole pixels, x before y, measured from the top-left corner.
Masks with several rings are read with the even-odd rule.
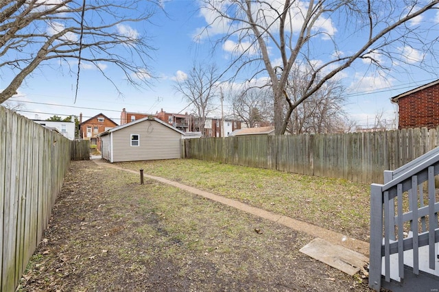
[[[347,134],[233,136],[183,139],[186,158],[305,175],[383,182],[396,169],[438,145],[437,129]]]

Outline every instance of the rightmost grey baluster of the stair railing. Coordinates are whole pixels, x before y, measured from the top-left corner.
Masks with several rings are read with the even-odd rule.
[[[436,202],[436,190],[434,187],[434,167],[428,168],[428,243],[429,243],[429,268],[435,269],[435,230],[438,225],[436,212],[434,212],[434,203]]]

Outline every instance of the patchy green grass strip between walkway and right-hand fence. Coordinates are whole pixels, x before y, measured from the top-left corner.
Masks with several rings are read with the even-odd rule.
[[[370,186],[333,178],[202,160],[121,162],[161,176],[368,241]]]

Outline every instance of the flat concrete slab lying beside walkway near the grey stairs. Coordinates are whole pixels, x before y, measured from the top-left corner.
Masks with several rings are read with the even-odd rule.
[[[300,252],[351,276],[363,270],[369,261],[369,258],[358,252],[320,238],[313,239],[302,247]]]

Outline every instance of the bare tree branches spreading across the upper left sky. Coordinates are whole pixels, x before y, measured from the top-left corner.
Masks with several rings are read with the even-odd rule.
[[[0,103],[12,97],[38,66],[60,71],[63,63],[79,78],[79,60],[82,66],[100,71],[119,93],[106,73],[108,65],[120,69],[130,84],[147,85],[152,47],[144,32],[130,24],[149,21],[158,4],[153,0],[0,1],[0,70],[3,76],[14,76],[1,91]]]

